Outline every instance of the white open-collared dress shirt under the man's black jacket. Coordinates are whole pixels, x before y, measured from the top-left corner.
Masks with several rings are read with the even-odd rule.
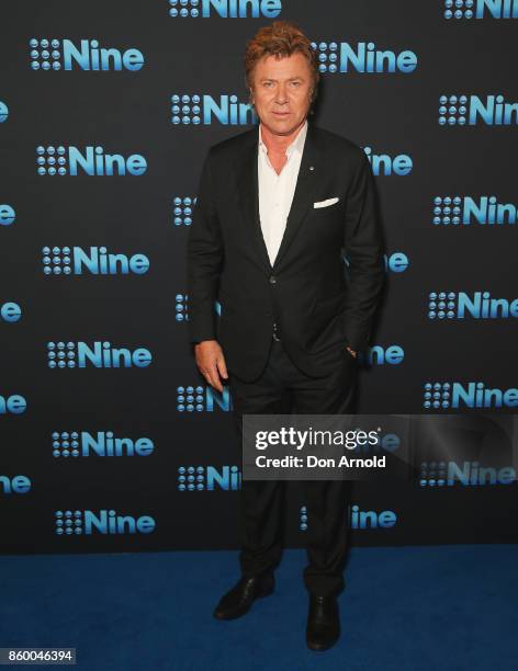
[[[295,139],[286,148],[288,160],[277,174],[268,150],[262,141],[261,125],[259,124],[259,151],[257,168],[259,177],[259,218],[262,237],[268,250],[270,263],[273,265],[286,228],[286,218],[290,214],[293,194],[295,192],[299,169],[301,167],[302,150],[307,134],[307,120],[299,130]]]

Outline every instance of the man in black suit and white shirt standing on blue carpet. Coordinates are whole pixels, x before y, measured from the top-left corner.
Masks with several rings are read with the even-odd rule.
[[[243,413],[351,412],[357,355],[384,280],[365,153],[307,121],[319,78],[309,41],[275,21],[247,44],[245,66],[259,128],[209,150],[188,241],[195,361],[215,389],[228,379],[240,436]],[[219,601],[218,618],[244,615],[273,591],[283,486],[241,485],[241,577]],[[350,481],[304,486],[306,642],[325,650],[340,630]]]

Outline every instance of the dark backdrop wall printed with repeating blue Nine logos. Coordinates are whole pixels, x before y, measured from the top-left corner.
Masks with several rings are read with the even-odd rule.
[[[375,175],[387,285],[358,412],[465,413],[473,446],[506,439],[491,467],[468,450],[356,482],[352,543],[516,542],[518,2],[0,12],[1,551],[237,547],[240,450],[189,344],[185,243],[209,147],[257,123],[244,50],[274,19],[318,50],[311,123]],[[292,547],[304,505],[291,482]]]

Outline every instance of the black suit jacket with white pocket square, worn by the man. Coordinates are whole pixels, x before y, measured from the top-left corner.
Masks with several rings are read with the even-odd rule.
[[[251,382],[275,322],[296,365],[325,375],[339,342],[357,351],[368,344],[385,277],[371,166],[356,144],[308,121],[272,266],[259,220],[257,152],[255,126],[206,155],[188,237],[190,339],[217,340],[228,371]],[[313,206],[333,197],[334,205]]]

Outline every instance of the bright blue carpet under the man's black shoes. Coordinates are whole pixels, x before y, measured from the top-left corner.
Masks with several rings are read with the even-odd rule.
[[[236,551],[3,556],[0,647],[75,647],[81,671],[516,669],[517,560],[515,545],[353,548],[342,636],[313,652],[303,550],[232,622],[212,610]]]

